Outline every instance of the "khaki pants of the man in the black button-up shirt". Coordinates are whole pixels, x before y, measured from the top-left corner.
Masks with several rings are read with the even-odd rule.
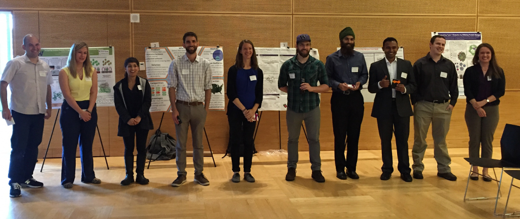
[[[447,103],[431,103],[419,101],[413,106],[413,171],[424,170],[424,152],[426,152],[426,135],[432,124],[434,150],[439,173],[449,173],[451,158],[446,145],[446,135],[450,129],[451,111],[446,111]]]

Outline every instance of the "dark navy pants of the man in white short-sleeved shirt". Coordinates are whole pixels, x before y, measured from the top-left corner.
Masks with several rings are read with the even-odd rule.
[[[16,124],[12,125],[9,184],[20,184],[32,178],[38,158],[38,145],[42,143],[45,115],[27,115],[14,110],[11,115]]]

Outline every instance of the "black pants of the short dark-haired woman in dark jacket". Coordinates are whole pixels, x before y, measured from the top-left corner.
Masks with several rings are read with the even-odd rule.
[[[123,137],[125,144],[125,169],[126,175],[134,175],[134,147],[137,148],[137,174],[145,173],[146,163],[146,140],[148,138],[148,129],[141,129],[138,126],[128,126],[129,134]]]

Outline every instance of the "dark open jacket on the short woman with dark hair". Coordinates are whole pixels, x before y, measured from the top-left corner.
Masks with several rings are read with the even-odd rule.
[[[143,90],[143,97],[142,97],[142,105],[141,109],[138,113],[139,117],[141,117],[141,121],[137,126],[141,129],[153,129],[153,122],[152,117],[150,116],[150,106],[152,105],[152,91],[150,88],[150,84],[148,83],[148,80],[142,77],[139,77],[139,84],[142,86],[145,84],[145,89]],[[130,125],[128,125],[128,121],[132,119],[132,116],[128,113],[128,110],[126,109],[127,104],[132,103],[125,103],[125,100],[123,98],[123,90],[122,90],[122,81],[127,80],[127,78],[121,79],[118,83],[114,86],[114,105],[115,110],[119,114],[119,126],[118,126],[118,136],[128,136]]]

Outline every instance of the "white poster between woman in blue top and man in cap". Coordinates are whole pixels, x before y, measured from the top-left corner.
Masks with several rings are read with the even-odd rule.
[[[293,58],[296,48],[255,48],[258,67],[264,72],[264,100],[258,111],[287,111],[287,93],[278,89],[278,76],[282,64]],[[310,56],[320,59],[317,49],[310,50]]]

